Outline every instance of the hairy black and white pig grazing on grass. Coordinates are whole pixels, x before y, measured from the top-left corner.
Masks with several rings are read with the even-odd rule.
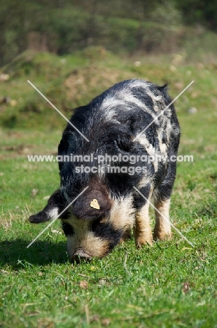
[[[180,129],[173,104],[163,111],[170,102],[167,85],[131,79],[74,111],[70,122],[89,141],[66,125],[58,147],[60,189],[29,217],[55,219],[88,186],[59,217],[70,261],[104,257],[131,228],[137,247],[171,235]],[[157,209],[154,233],[146,199]]]

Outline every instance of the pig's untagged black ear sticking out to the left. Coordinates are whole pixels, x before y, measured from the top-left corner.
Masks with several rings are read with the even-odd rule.
[[[59,190],[55,191],[48,200],[48,205],[38,212],[37,214],[31,215],[29,217],[29,222],[38,224],[45,221],[50,221],[56,219],[59,213],[64,210],[64,200]],[[64,213],[65,215],[66,213]],[[62,216],[61,216],[62,217]]]

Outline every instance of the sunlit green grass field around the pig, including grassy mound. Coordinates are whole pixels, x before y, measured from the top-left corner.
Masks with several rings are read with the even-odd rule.
[[[217,327],[216,65],[121,60],[99,47],[65,57],[26,53],[3,72],[10,78],[0,98],[10,102],[0,104],[0,327]],[[69,118],[71,108],[133,77],[169,81],[172,97],[195,81],[175,103],[179,154],[194,161],[178,163],[171,208],[195,247],[173,231],[153,247],[137,250],[132,239],[104,259],[71,265],[56,221],[27,249],[46,226],[29,224],[29,214],[59,184],[57,163],[29,163],[27,155],[56,153],[66,124],[27,79]]]

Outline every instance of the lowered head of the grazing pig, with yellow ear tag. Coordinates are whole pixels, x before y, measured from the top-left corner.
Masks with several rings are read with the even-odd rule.
[[[132,199],[111,199],[106,186],[95,181],[90,182],[88,189],[64,210],[84,189],[81,188],[77,195],[73,193],[70,199],[66,199],[68,197],[63,191],[55,191],[48,205],[29,217],[31,223],[49,221],[58,216],[62,219],[71,262],[104,257],[118,245],[133,223]]]

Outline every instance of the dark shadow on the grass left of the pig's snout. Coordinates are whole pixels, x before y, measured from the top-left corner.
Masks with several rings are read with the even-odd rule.
[[[68,261],[66,242],[36,241],[27,248],[27,240],[4,240],[0,242],[0,267],[11,266],[19,270],[31,265],[63,264]]]

